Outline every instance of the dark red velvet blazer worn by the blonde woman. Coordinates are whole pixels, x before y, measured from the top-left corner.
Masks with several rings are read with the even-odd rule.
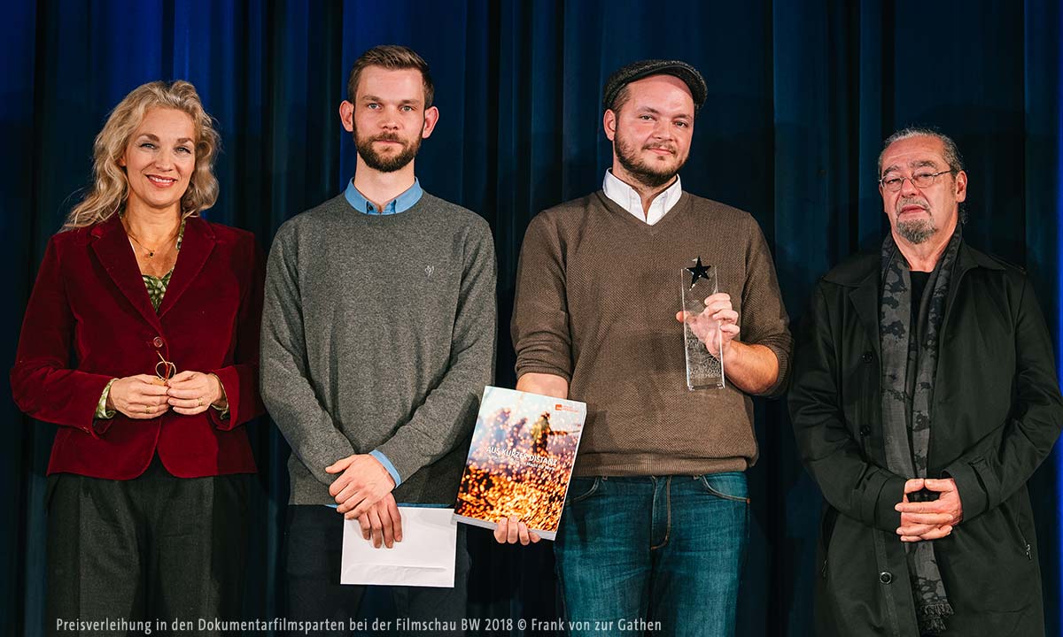
[[[189,218],[158,312],[118,216],[60,233],[45,252],[11,372],[19,409],[60,426],[49,474],[129,480],[155,451],[170,474],[255,471],[240,427],[263,413],[258,330],[264,258],[244,230]],[[96,420],[112,378],[154,374],[158,354],[178,372],[214,373],[229,399],[195,416]]]

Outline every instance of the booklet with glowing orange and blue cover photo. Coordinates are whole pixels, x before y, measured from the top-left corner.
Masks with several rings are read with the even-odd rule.
[[[486,388],[454,519],[496,529],[516,515],[554,539],[586,419],[585,402]]]

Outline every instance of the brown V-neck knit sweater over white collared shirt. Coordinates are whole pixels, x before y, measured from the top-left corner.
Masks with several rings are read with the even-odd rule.
[[[739,313],[739,340],[771,348],[786,386],[791,338],[763,234],[748,213],[684,193],[646,225],[601,191],[532,220],[512,335],[517,376],[555,374],[587,402],[576,476],[699,475],[757,460],[753,401],[687,390],[679,270],[701,256]],[[726,373],[726,369],[725,369]]]

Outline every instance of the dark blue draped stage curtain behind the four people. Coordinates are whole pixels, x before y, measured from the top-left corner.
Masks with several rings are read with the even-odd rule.
[[[129,90],[157,79],[196,84],[223,139],[221,197],[207,216],[268,248],[281,223],[352,175],[337,107],[354,58],[386,42],[418,50],[436,80],[441,118],[418,158],[422,185],[494,231],[499,384],[513,382],[508,317],[524,228],[537,211],[600,188],[611,159],[602,84],[641,57],[681,58],[705,74],[684,187],[756,217],[795,321],[816,278],[888,227],[876,187],[882,138],[927,124],[964,153],[967,240],[1030,272],[1059,343],[1061,32],[1057,0],[18,0],[0,20],[0,360],[14,360],[45,242],[88,183],[92,138]],[[0,409],[0,493],[13,512],[0,528],[0,617],[9,634],[39,635],[54,428],[11,401]],[[268,419],[251,431],[261,488],[247,612],[269,618],[281,613],[288,449]],[[811,635],[819,490],[781,401],[758,403],[757,433],[738,634]],[[1051,635],[1060,462],[1053,454],[1031,483]],[[478,532],[470,543],[471,616],[558,615],[549,546],[495,547]]]

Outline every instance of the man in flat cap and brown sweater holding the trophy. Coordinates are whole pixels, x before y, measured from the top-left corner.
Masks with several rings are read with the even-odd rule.
[[[750,396],[781,391],[791,338],[757,222],[682,190],[706,96],[682,62],[613,73],[602,190],[541,212],[524,238],[517,389],[588,404],[555,544],[573,635],[735,631],[744,471],[757,459]],[[678,273],[698,257],[716,268],[720,292],[702,317],[676,315]],[[687,389],[677,318],[697,323],[723,359],[725,389]],[[495,536],[536,539],[513,519]]]

